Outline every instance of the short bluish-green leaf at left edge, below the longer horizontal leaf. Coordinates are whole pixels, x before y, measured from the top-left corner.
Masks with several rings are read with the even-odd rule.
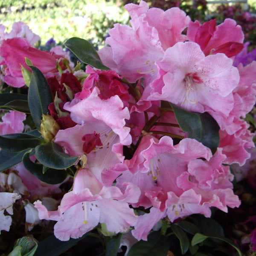
[[[0,172],[15,166],[17,163],[22,161],[23,155],[26,153],[27,150],[10,153],[4,150],[0,151]]]

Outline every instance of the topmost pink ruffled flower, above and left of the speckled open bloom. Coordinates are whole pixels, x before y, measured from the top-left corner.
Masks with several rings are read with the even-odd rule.
[[[159,61],[168,47],[186,41],[182,35],[190,18],[178,8],[164,12],[157,8],[148,9],[148,4],[140,1],[140,5],[125,6],[131,15],[131,26],[115,24],[109,30],[110,37],[99,50],[103,64],[124,76],[128,81],[135,82],[141,77],[156,78]],[[177,22],[178,20],[178,22]]]

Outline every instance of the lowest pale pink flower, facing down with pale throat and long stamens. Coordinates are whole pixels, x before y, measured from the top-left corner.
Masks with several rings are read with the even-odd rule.
[[[48,212],[40,201],[34,204],[41,219],[57,220],[54,234],[62,241],[79,238],[98,223],[105,223],[110,232],[125,232],[136,224],[137,216],[128,203],[137,202],[140,189],[130,183],[123,185],[124,193],[114,186],[102,186],[89,169],[80,169],[73,190],[64,195],[56,213]]]

